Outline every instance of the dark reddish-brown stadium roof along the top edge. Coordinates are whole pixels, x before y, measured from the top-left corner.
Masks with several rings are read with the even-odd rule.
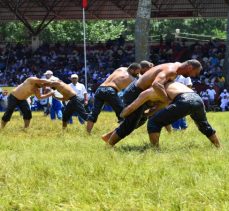
[[[0,21],[82,19],[82,0],[0,0]],[[138,0],[88,0],[87,19],[135,18]],[[152,18],[227,17],[224,0],[152,0]]]

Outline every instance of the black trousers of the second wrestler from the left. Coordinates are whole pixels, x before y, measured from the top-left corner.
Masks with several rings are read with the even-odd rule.
[[[65,110],[63,112],[63,122],[68,122],[71,118],[71,116],[73,115],[73,113],[77,112],[77,114],[84,119],[85,121],[87,121],[88,119],[88,114],[84,108],[84,104],[82,103],[82,101],[80,100],[80,98],[78,98],[76,95],[74,95],[73,97],[71,97],[69,99],[69,102],[67,104],[67,106],[65,107]]]

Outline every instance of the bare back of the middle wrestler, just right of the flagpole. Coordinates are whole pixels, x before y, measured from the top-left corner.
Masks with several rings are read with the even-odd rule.
[[[126,67],[116,69],[100,86],[110,86],[117,91],[125,89],[135,78],[127,72]]]

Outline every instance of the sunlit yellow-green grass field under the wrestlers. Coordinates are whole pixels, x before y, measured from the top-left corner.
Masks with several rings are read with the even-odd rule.
[[[2,115],[2,114],[1,114]],[[15,113],[0,132],[0,210],[229,210],[229,113],[208,113],[223,148],[188,119],[184,132],[163,130],[161,149],[146,126],[109,149],[100,136],[116,127],[102,113],[93,134],[34,113]]]

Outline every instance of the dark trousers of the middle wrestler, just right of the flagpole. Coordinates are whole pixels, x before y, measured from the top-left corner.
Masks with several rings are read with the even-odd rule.
[[[123,103],[121,98],[118,96],[118,91],[110,86],[100,86],[95,92],[94,96],[94,106],[92,109],[92,114],[89,116],[89,120],[96,122],[98,116],[104,106],[104,104],[109,104],[114,110],[118,120],[120,118],[120,113],[123,110]]]

